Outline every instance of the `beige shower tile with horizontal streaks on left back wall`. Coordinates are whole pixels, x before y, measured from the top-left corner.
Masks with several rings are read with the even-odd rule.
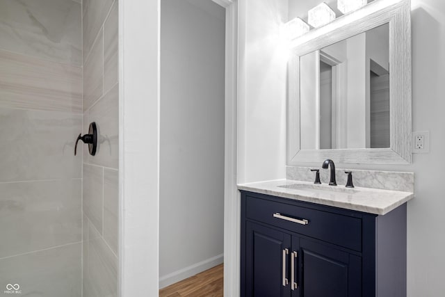
[[[82,111],[82,69],[0,50],[0,106]]]

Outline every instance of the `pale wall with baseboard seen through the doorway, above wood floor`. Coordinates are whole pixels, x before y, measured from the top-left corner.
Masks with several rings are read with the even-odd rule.
[[[160,287],[223,262],[225,9],[161,0]]]

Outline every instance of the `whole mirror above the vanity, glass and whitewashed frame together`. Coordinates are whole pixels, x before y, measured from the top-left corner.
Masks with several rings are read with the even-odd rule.
[[[287,163],[411,162],[409,0],[375,0],[293,40]]]

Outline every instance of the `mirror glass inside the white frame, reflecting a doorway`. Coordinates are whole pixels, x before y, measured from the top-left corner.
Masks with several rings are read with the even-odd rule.
[[[389,24],[301,56],[301,149],[390,147],[389,68]]]

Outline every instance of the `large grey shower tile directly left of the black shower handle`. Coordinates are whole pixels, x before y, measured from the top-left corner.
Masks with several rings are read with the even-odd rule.
[[[0,182],[81,177],[81,115],[0,108]]]

